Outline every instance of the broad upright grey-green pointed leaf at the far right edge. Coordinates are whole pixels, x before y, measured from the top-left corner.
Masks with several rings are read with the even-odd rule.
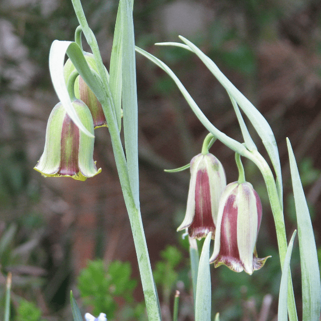
[[[302,273],[303,321],[319,321],[321,311],[321,282],[316,241],[311,217],[304,195],[298,166],[289,139],[287,139]]]

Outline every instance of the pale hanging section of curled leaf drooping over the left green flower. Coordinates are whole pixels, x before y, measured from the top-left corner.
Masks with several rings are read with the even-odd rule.
[[[50,76],[56,90],[59,100],[62,102],[63,106],[73,122],[78,126],[78,128],[89,137],[94,137],[88,132],[88,130],[82,125],[75,108],[69,97],[69,93],[66,87],[64,78],[64,61],[65,55],[68,47],[72,44],[71,41],[59,41],[55,40],[50,48],[49,53],[49,70]],[[76,44],[76,43],[75,43]],[[77,45],[77,44],[76,44]],[[78,46],[78,45],[77,45]],[[89,67],[88,67],[89,68]]]

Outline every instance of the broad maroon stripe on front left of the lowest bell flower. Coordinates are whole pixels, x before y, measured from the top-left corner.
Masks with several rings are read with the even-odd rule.
[[[237,236],[238,209],[235,207],[235,198],[234,194],[230,195],[224,207],[221,223],[220,256],[240,260]]]

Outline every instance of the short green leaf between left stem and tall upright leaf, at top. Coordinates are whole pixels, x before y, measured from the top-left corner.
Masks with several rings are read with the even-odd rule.
[[[122,23],[121,3],[118,5],[113,48],[110,57],[109,86],[113,97],[118,129],[121,128],[121,97],[122,97]]]

